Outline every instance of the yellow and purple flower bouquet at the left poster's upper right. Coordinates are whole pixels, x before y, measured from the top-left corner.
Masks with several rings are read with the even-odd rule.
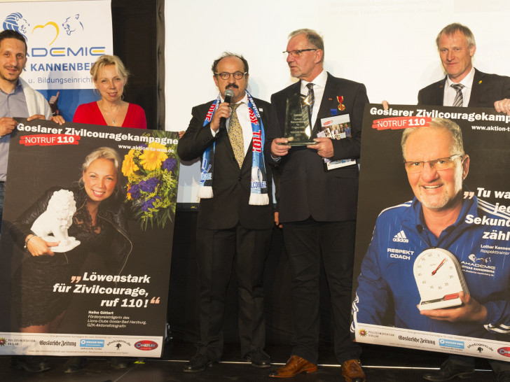
[[[154,132],[156,133],[156,132]],[[173,144],[142,144],[125,155],[122,173],[127,177],[127,200],[143,230],[163,228],[172,221],[177,200],[179,166]]]

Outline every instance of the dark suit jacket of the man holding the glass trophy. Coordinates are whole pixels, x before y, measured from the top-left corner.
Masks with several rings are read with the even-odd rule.
[[[271,142],[284,136],[287,97],[300,90],[301,82],[298,82],[271,96],[271,124],[265,150],[266,162],[280,167],[280,221],[296,222],[310,216],[324,222],[355,220],[359,176],[356,165],[326,171],[322,157],[315,150],[303,146],[291,148],[280,163],[271,158]],[[343,111],[338,110],[338,96],[343,96]],[[363,84],[336,78],[328,73],[313,136],[317,136],[320,119],[332,115],[331,109],[337,109],[338,115],[348,113],[352,128],[352,138],[333,139],[333,159],[359,158],[361,119],[367,103]]]

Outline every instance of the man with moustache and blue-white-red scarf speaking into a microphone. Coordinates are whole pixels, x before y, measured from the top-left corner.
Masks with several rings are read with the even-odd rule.
[[[197,222],[200,340],[184,372],[201,372],[221,358],[223,311],[232,264],[237,276],[242,357],[270,367],[263,351],[263,267],[273,229],[271,176],[263,162],[263,128],[270,104],[247,92],[248,63],[225,52],[212,65],[216,101],[195,106],[179,141],[182,160],[202,158]],[[230,104],[226,90],[232,90]],[[266,171],[266,169],[268,171]]]

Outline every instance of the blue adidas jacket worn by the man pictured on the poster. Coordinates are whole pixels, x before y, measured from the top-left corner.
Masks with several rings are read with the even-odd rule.
[[[459,218],[439,238],[427,229],[417,199],[382,211],[361,264],[352,330],[368,323],[509,341],[510,213],[494,210],[476,197],[464,199]],[[487,309],[485,322],[450,323],[420,315],[413,264],[432,246],[457,257],[471,297]]]

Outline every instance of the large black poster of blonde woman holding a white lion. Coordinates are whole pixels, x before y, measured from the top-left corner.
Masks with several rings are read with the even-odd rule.
[[[177,132],[16,120],[1,226],[0,354],[160,357]],[[54,255],[36,253],[40,238]]]

